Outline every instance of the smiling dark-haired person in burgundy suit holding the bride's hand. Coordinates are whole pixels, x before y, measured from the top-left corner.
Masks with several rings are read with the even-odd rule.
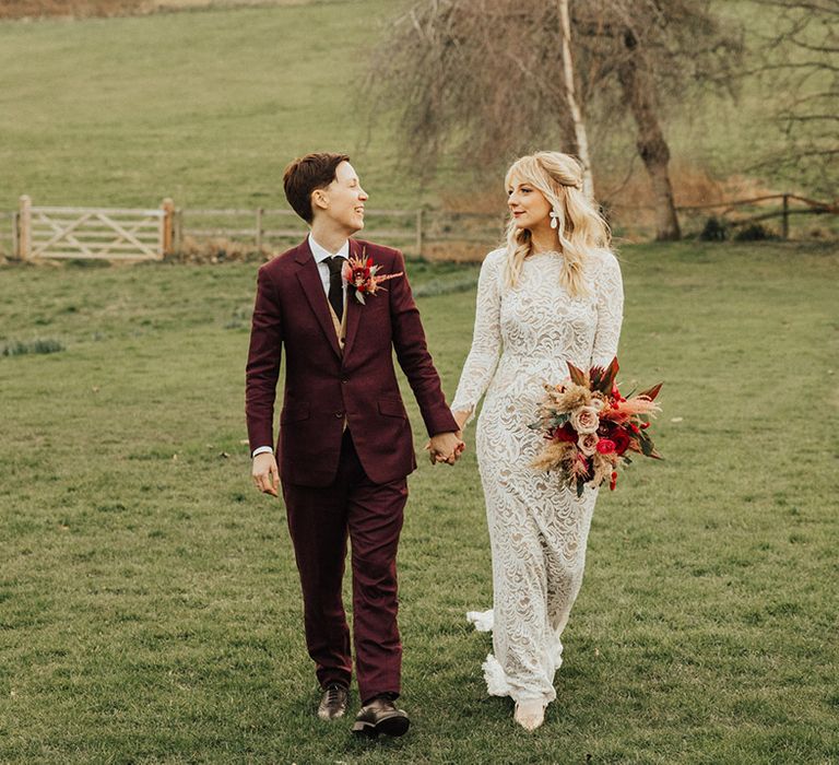
[[[402,644],[397,626],[397,546],[416,467],[393,352],[420,404],[433,460],[453,463],[462,442],[440,389],[399,250],[351,238],[367,193],[344,154],[308,154],[283,177],[311,231],[259,269],[247,364],[246,412],[257,487],[282,482],[300,574],[306,645],[322,698],[344,715],[352,674],[341,582],[352,543],[353,638],[362,709],[353,731],[401,735]],[[347,259],[391,275],[382,289],[347,282]],[[352,266],[352,260],[348,263]],[[363,274],[362,274],[363,275]],[[376,274],[374,274],[376,275]],[[358,299],[355,290],[365,287]],[[273,454],[281,352],[285,391]],[[279,462],[279,468],[277,468]]]

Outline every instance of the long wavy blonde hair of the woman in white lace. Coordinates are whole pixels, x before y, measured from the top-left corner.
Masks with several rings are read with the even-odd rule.
[[[560,283],[575,297],[587,294],[582,278],[586,260],[593,250],[610,249],[612,237],[603,216],[582,190],[582,165],[570,154],[536,152],[510,165],[506,188],[513,181],[533,186],[547,199],[556,214],[556,244],[564,259]],[[519,228],[511,215],[507,224],[507,286],[518,284],[524,258],[532,251],[530,231]]]

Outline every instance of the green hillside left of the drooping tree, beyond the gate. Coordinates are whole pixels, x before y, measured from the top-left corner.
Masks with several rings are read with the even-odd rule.
[[[0,209],[21,193],[45,204],[172,196],[181,207],[277,207],[283,168],[312,148],[354,151],[381,188],[378,205],[404,203],[388,183],[389,150],[363,150],[367,118],[353,106],[365,48],[391,8],[0,23]]]

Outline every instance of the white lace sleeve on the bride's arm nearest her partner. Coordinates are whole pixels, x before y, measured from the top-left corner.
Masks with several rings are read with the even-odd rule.
[[[501,258],[504,250],[486,256],[477,280],[475,330],[472,349],[460,373],[460,382],[451,403],[453,412],[470,412],[470,422],[481,397],[486,392],[501,351]]]

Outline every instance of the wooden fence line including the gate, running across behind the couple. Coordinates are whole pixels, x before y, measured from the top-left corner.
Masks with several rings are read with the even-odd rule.
[[[767,202],[780,201],[780,209],[760,211]],[[799,209],[793,209],[793,204]],[[618,211],[648,208],[619,205]],[[783,238],[790,235],[790,217],[804,214],[839,214],[839,203],[819,202],[793,193],[767,195],[752,199],[708,204],[680,205],[681,213],[718,210],[726,217],[749,209],[755,213],[726,220],[732,226],[781,219]],[[184,251],[185,239],[220,237],[252,243],[257,250],[299,240],[308,231],[286,209],[176,209],[170,199],[159,208],[63,208],[35,207],[21,197],[16,212],[2,215],[0,252],[21,260],[39,258],[95,258],[106,260],[159,260]],[[383,239],[416,256],[442,254],[457,248],[496,246],[506,215],[477,212],[417,210],[368,210],[361,236]],[[8,225],[8,228],[7,228]],[[4,243],[10,243],[7,247]],[[486,251],[483,249],[483,251]]]

